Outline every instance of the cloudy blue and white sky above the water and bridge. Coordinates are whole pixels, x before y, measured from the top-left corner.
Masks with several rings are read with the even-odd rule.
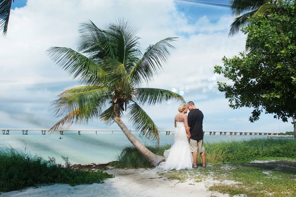
[[[201,3],[196,3],[201,2]],[[210,3],[209,3],[210,2]],[[252,108],[233,110],[217,90],[217,81],[231,83],[214,74],[215,65],[245,49],[246,35],[228,38],[230,15],[227,1],[190,0],[16,0],[12,4],[6,37],[0,37],[0,128],[52,127],[59,119],[49,110],[57,95],[79,86],[76,79],[57,66],[46,54],[51,46],[74,48],[78,24],[88,19],[97,26],[125,18],[138,27],[144,51],[167,37],[178,37],[161,74],[143,86],[175,91],[193,101],[204,113],[204,130],[291,131],[271,114],[249,122]],[[144,106],[159,129],[174,129],[181,103]],[[133,129],[129,120],[126,125]],[[119,129],[99,120],[80,129]]]

